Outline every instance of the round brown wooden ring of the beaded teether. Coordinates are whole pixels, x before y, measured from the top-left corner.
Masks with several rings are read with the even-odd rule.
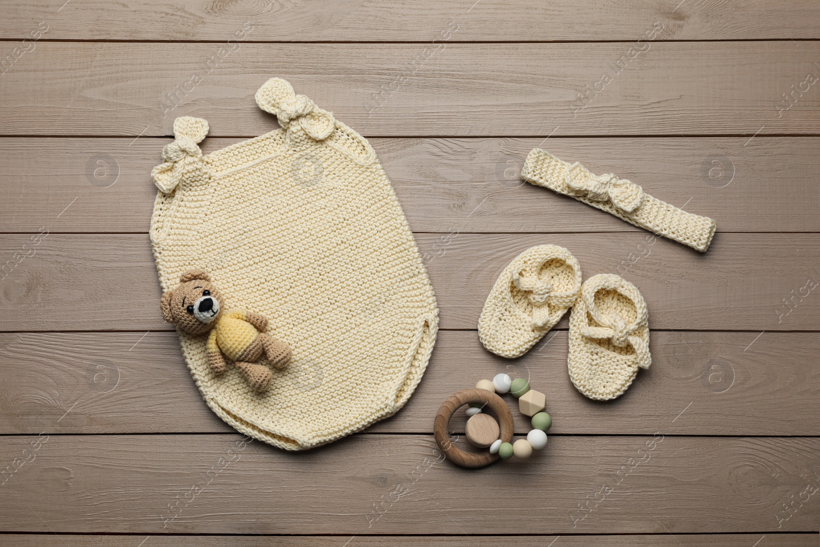
[[[502,442],[508,443],[512,440],[512,413],[507,403],[504,403],[503,399],[490,391],[470,388],[450,395],[449,399],[441,404],[439,412],[435,415],[435,422],[433,422],[435,442],[451,462],[462,467],[484,467],[497,460],[499,454],[490,454],[487,451],[480,453],[464,452],[462,449],[456,448],[447,433],[450,418],[453,417],[458,408],[469,403],[482,403],[492,408],[495,415],[499,417]]]

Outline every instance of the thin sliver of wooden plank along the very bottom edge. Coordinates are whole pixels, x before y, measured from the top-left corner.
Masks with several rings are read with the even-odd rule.
[[[509,547],[544,547],[553,541],[555,547],[749,547],[760,539],[760,534],[687,534],[672,536],[510,536],[503,539]],[[50,544],[54,534],[6,534],[0,536],[7,547],[34,547]],[[143,536],[60,536],[59,545],[64,547],[134,547],[134,539]],[[151,543],[144,547],[339,547],[347,536],[151,536]],[[362,545],[432,545],[433,547],[496,547],[499,536],[355,536],[347,547]],[[817,534],[768,534],[766,547],[817,547]]]

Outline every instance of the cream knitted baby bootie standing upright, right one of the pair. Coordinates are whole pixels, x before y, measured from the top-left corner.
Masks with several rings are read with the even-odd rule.
[[[649,368],[649,312],[629,281],[613,274],[586,280],[569,320],[569,377],[590,399],[620,397],[638,368]]]

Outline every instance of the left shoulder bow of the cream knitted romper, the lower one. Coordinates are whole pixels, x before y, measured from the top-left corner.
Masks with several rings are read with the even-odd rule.
[[[162,159],[165,161],[153,168],[151,177],[154,184],[164,194],[168,194],[180,181],[198,174],[207,176],[207,170],[201,165],[203,153],[198,143],[207,135],[207,121],[201,118],[183,116],[174,121],[175,140],[162,148]],[[198,167],[203,167],[198,169]]]

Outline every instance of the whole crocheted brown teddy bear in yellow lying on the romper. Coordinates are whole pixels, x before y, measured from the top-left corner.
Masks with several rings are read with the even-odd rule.
[[[257,391],[264,391],[273,373],[257,361],[265,355],[277,370],[290,360],[288,344],[265,334],[266,317],[242,309],[224,310],[216,285],[202,270],[186,271],[180,286],[162,294],[162,317],[181,330],[207,338],[207,359],[213,372],[225,372],[225,357],[234,362]]]

